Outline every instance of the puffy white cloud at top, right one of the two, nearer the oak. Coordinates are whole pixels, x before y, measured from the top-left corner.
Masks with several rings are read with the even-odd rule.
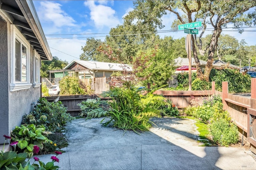
[[[95,1],[86,1],[84,5],[90,9],[90,18],[97,28],[116,27],[121,23],[118,17],[115,16],[116,11],[109,6],[96,5]]]

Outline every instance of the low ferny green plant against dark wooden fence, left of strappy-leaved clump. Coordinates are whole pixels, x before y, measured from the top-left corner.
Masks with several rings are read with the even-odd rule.
[[[105,101],[101,101],[100,98],[82,101],[81,103],[77,104],[81,108],[79,116],[86,117],[86,119],[91,119],[93,117],[104,117],[108,111],[100,106],[103,104],[107,103]]]

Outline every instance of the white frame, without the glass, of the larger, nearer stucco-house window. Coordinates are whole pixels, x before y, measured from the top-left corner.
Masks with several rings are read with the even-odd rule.
[[[16,52],[16,40],[20,42],[21,46],[24,45],[27,49],[26,53],[26,82],[16,81],[16,72],[15,72],[15,52]],[[22,60],[22,59],[21,59]],[[20,70],[22,71],[22,69]],[[26,38],[20,33],[20,31],[16,28],[15,25],[11,24],[11,84],[10,91],[24,90],[28,89],[32,86],[30,83],[30,43],[26,40]]]

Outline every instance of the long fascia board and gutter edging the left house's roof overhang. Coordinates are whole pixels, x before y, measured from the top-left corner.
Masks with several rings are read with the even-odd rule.
[[[50,53],[50,47],[46,41],[46,37],[36,14],[36,9],[33,2],[30,0],[16,0],[16,3],[18,4],[26,20],[28,21],[28,24],[30,25],[32,31],[36,35],[36,38],[38,39],[42,49],[44,50],[47,59],[51,61],[52,54]]]

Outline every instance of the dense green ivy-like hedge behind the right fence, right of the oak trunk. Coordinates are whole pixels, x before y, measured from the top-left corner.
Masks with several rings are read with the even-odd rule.
[[[212,69],[210,74],[210,81],[215,81],[215,89],[222,91],[222,82],[228,82],[228,92],[242,93],[250,92],[251,77],[248,74],[241,74],[239,70],[235,69]]]

